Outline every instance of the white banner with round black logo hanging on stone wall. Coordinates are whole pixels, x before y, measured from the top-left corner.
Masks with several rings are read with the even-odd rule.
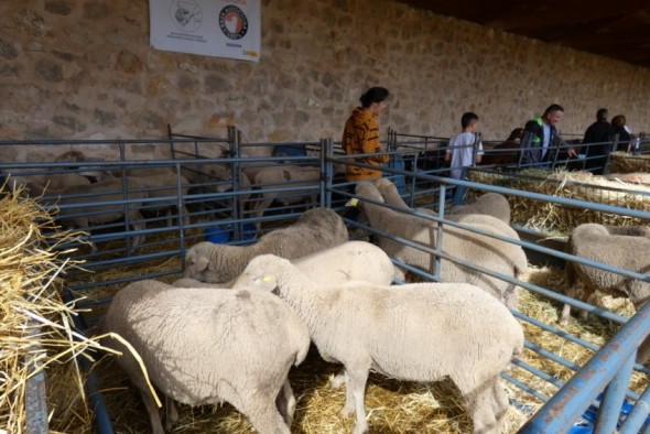
[[[149,0],[151,47],[259,62],[260,0]]]

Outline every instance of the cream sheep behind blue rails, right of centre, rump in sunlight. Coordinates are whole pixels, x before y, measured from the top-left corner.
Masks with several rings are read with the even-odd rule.
[[[357,184],[356,194],[377,202],[383,202],[379,189],[371,182]],[[357,206],[359,206],[372,228],[424,246],[435,247],[437,236],[437,224],[435,221],[371,204],[362,198]],[[519,239],[519,236],[510,226],[491,216],[469,214],[447,216],[447,218],[488,234]],[[435,259],[429,252],[380,235],[377,235],[377,242],[389,257],[422,270],[430,270]],[[443,225],[442,252],[513,278],[524,273],[528,269],[528,260],[520,246],[451,227],[449,225]],[[517,286],[498,278],[492,278],[446,259],[441,261],[440,276],[446,282],[476,284],[501,300],[508,307],[514,310],[518,307]]]

